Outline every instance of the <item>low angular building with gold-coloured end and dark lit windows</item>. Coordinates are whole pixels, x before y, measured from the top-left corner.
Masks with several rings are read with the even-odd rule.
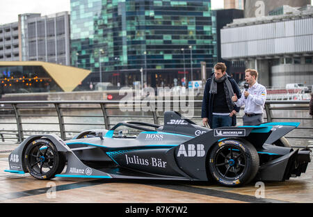
[[[40,61],[0,61],[0,95],[6,93],[71,92],[89,70]]]

